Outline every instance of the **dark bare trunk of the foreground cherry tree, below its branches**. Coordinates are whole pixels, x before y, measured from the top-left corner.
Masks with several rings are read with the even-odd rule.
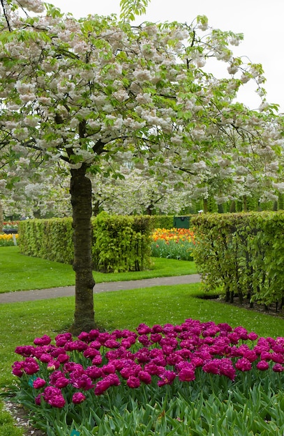
[[[96,327],[91,258],[91,180],[85,176],[86,170],[84,164],[80,169],[71,169],[70,182],[75,271],[75,313],[70,332],[75,335]]]

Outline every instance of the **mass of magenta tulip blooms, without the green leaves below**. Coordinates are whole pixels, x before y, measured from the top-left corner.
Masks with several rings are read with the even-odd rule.
[[[136,389],[193,382],[200,371],[232,381],[238,371],[284,371],[284,337],[257,339],[244,327],[193,319],[181,325],[142,323],[136,332],[94,329],[77,339],[64,333],[55,337],[55,344],[44,335],[15,352],[24,360],[14,362],[13,374],[28,378],[36,405],[44,401],[59,408],[66,404],[68,389],[77,404],[87,391],[100,396],[119,385]]]

